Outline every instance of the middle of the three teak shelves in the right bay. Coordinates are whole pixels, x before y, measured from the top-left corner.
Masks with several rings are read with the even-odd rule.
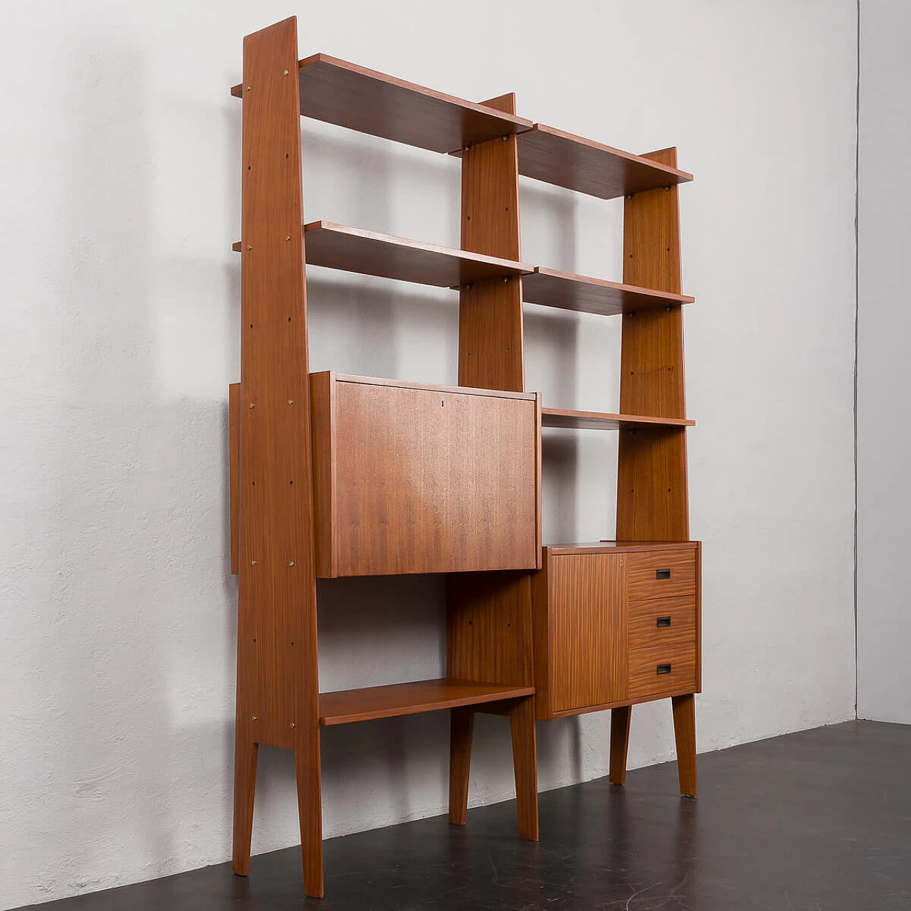
[[[693,298],[685,294],[651,291],[649,288],[637,288],[617,281],[592,279],[540,267],[522,280],[522,294],[527,303],[539,303],[561,310],[599,313],[601,316],[657,310],[693,302]]]

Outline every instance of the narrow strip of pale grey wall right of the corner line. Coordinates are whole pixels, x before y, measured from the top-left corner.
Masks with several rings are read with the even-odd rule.
[[[857,714],[911,724],[911,6],[863,0],[860,22]]]

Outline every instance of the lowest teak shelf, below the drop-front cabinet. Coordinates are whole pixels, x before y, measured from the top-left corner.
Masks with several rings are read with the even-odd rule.
[[[422,711],[455,709],[534,695],[533,686],[510,687],[497,683],[443,678],[415,683],[393,683],[363,690],[320,693],[320,724],[369,722],[374,718],[414,715]]]

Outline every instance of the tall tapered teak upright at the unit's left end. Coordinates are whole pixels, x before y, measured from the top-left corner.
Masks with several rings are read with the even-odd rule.
[[[294,750],[304,889],[322,896],[297,59],[293,17],[244,38],[238,765],[245,743]],[[237,819],[242,873],[250,844]]]

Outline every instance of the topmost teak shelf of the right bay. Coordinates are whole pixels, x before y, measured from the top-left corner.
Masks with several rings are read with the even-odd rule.
[[[686,171],[540,123],[518,137],[518,172],[602,200],[692,179]]]

